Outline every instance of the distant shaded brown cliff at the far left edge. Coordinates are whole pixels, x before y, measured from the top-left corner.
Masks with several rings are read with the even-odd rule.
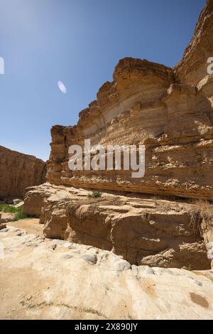
[[[45,182],[45,163],[0,146],[0,198],[22,197],[31,185]]]

